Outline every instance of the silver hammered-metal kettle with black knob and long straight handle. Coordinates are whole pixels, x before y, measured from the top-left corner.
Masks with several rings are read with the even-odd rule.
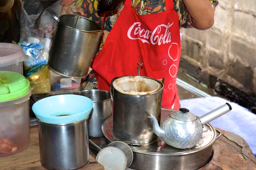
[[[156,117],[152,114],[148,118],[153,121],[154,133],[163,141],[178,149],[194,147],[202,138],[203,125],[220,117],[231,110],[230,104],[226,103],[202,117],[197,117],[189,112],[187,108],[180,108],[171,112],[163,122],[161,127]]]

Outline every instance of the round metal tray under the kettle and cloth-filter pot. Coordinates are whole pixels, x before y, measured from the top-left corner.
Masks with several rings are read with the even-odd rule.
[[[161,110],[161,121],[169,115],[170,109]],[[215,128],[207,123],[204,125],[202,138],[191,149],[177,149],[171,147],[159,138],[157,142],[146,146],[129,145],[134,153],[134,160],[129,168],[132,169],[198,169],[207,164],[212,156],[212,145],[217,136]],[[102,132],[106,143],[115,141],[112,136],[113,117],[109,117],[102,124]]]

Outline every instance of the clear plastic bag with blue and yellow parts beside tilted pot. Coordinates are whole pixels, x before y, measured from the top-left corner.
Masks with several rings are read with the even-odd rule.
[[[24,61],[24,76],[30,81],[33,94],[50,93],[50,69],[47,66],[52,37],[58,26],[54,19],[61,14],[62,2],[43,10],[40,2],[23,1],[20,45],[28,55]]]

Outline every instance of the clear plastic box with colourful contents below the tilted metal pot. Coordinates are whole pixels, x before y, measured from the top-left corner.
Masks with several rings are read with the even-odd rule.
[[[81,79],[64,77],[59,74],[56,74],[52,70],[50,70],[50,75],[52,91],[78,89],[80,87]]]

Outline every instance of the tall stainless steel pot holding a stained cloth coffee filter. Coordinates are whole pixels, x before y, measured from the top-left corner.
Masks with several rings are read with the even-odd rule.
[[[122,78],[126,77],[119,77],[113,79],[111,82],[111,98],[113,100],[113,138],[133,145],[148,145],[156,142],[158,137],[153,132],[153,123],[148,119],[148,115],[153,114],[156,119],[158,119],[158,123],[160,123],[163,83],[149,77],[139,77],[139,79],[150,80],[145,82],[153,81],[154,84],[155,82],[159,83],[159,89],[151,89],[150,91],[152,93],[148,94],[148,91],[146,91],[148,88],[142,88],[146,91],[145,93],[139,92],[142,95],[129,95],[127,94],[129,88],[126,88],[125,92],[121,93],[120,90],[115,89],[115,86],[113,85],[115,81],[119,81]],[[120,82],[126,83],[123,80]]]

